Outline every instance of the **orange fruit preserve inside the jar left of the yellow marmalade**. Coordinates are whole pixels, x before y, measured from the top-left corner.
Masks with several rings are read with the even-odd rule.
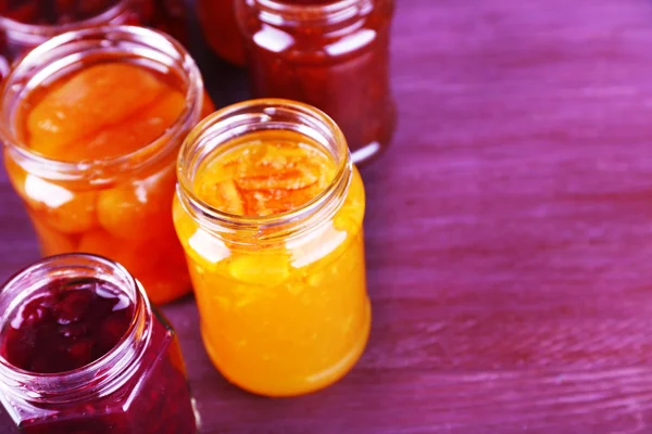
[[[165,74],[126,62],[98,63],[32,91],[17,117],[18,137],[27,152],[53,163],[136,162],[138,151],[173,128],[186,104],[185,92]],[[154,303],[190,291],[170,216],[176,152],[147,168],[112,174],[109,183],[37,175],[15,155],[5,151],[7,169],[42,255],[86,252],[112,258],[141,281]]]

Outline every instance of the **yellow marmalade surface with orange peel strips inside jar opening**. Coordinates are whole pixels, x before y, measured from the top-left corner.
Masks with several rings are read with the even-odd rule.
[[[252,136],[204,166],[196,193],[228,214],[263,217],[300,207],[335,177],[331,158],[292,132]]]

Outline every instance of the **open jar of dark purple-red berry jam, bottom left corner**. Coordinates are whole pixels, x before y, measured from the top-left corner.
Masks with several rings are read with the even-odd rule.
[[[174,330],[122,266],[52,256],[0,290],[0,432],[196,433]]]

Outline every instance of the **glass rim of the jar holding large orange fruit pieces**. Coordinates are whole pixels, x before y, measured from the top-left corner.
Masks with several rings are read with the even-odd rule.
[[[60,62],[58,55],[62,54],[65,55],[64,59],[77,56],[79,53],[90,52],[93,48],[105,49],[110,43],[114,43],[114,47],[112,47],[114,51],[109,52],[109,54],[133,54],[127,51],[127,48],[120,46],[120,43],[133,41],[155,51],[158,58],[154,61],[158,61],[160,56],[166,56],[171,62],[174,62],[184,74],[183,78],[186,78],[187,81],[184,110],[160,137],[130,153],[86,162],[66,162],[42,156],[30,151],[16,137],[13,125],[13,115],[16,107],[8,107],[11,103],[10,97],[13,95],[18,101],[25,97],[23,94],[24,87],[21,87],[16,81],[26,79],[29,82],[34,79],[33,75],[43,73],[45,77],[40,79],[42,81],[46,77],[68,67],[70,62]],[[70,50],[71,44],[73,46],[72,51]],[[142,56],[145,54],[139,52],[137,55]],[[78,60],[78,58],[75,58],[74,61]],[[50,71],[48,67],[51,65],[58,65],[59,67]],[[172,67],[172,65],[168,66]],[[37,82],[36,86],[39,86],[39,84]],[[33,167],[30,173],[37,176],[64,181],[90,180],[96,184],[106,183],[112,181],[115,174],[120,173],[121,169],[147,165],[151,158],[167,155],[167,153],[178,148],[178,141],[180,140],[174,139],[180,136],[179,131],[189,130],[200,118],[203,90],[203,80],[195,60],[184,46],[170,35],[129,25],[101,26],[66,31],[49,39],[27,53],[4,78],[0,90],[2,101],[0,103],[0,139],[7,149],[14,152],[17,159],[25,162],[25,165],[30,165]],[[110,176],[111,174],[113,176]]]

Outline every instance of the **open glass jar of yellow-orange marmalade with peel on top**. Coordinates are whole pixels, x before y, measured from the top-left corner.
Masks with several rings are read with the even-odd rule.
[[[367,342],[364,187],[337,125],[288,100],[209,116],[186,139],[174,224],[215,367],[266,396],[325,387]]]

